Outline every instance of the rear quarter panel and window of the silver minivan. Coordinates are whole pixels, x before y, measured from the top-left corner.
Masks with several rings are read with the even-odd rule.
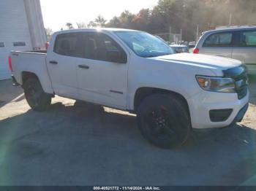
[[[203,42],[203,48],[200,53],[206,55],[218,55],[227,58],[232,57],[233,51],[233,33],[221,32],[211,34]]]

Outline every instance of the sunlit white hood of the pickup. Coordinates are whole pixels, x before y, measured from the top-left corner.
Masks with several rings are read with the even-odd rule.
[[[167,61],[171,63],[182,63],[192,66],[198,66],[208,69],[230,69],[240,66],[241,61],[231,58],[219,57],[214,55],[200,55],[192,53],[181,53],[173,55],[162,55],[159,57],[151,58],[157,61]]]

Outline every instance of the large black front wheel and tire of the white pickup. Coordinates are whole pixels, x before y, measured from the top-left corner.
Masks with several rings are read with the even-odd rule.
[[[181,98],[165,93],[149,95],[138,106],[137,120],[142,135],[157,147],[173,148],[189,138],[191,122]]]

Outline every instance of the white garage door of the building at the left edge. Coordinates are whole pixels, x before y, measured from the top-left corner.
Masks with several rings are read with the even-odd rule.
[[[0,80],[11,77],[10,50],[32,50],[29,24],[23,1],[0,0]]]

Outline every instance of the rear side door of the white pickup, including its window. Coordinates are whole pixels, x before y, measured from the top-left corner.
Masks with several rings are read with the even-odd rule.
[[[47,65],[57,95],[78,98],[77,68],[82,55],[82,33],[58,34],[48,51]]]

